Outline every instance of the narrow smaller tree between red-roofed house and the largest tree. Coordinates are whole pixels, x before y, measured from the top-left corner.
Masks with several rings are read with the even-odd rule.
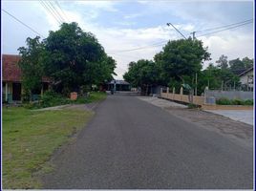
[[[18,65],[22,71],[22,86],[24,94],[32,98],[32,92],[41,90],[43,76],[42,53],[44,45],[39,41],[40,37],[27,38],[27,48],[20,47],[18,49],[21,60]]]

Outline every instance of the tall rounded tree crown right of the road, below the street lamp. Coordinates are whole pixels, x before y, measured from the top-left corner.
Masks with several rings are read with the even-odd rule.
[[[202,69],[203,60],[210,59],[207,48],[200,40],[180,39],[169,41],[154,57],[160,66],[163,85],[192,83],[195,74]]]

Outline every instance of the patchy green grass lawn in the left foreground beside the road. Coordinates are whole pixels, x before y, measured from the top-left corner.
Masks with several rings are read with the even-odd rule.
[[[85,126],[92,112],[3,108],[3,188],[40,188],[35,172],[51,170],[53,151]]]

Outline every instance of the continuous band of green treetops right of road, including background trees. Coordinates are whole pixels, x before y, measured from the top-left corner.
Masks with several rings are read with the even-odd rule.
[[[191,38],[173,40],[154,56],[154,61],[131,62],[123,77],[135,87],[158,84],[179,90],[181,84],[188,84],[192,88],[197,86],[198,93],[202,94],[206,86],[210,89],[240,87],[235,72],[253,66],[253,59],[248,57],[228,61],[222,54],[216,61],[217,66],[210,63],[203,70],[203,61],[207,60],[210,60],[210,53],[203,48],[202,41]]]

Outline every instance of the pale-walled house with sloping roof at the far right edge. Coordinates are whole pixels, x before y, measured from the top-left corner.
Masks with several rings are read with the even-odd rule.
[[[242,86],[246,87],[247,91],[253,90],[253,67],[238,74]]]

